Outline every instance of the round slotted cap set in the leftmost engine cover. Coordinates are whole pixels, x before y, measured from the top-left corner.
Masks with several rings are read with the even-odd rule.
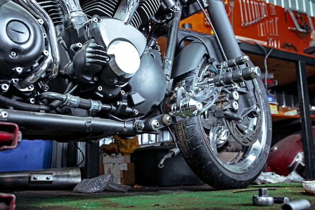
[[[7,25],[7,35],[16,43],[24,43],[30,38],[30,30],[24,23],[14,20]]]

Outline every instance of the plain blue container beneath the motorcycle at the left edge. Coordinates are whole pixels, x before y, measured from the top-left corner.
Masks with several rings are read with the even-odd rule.
[[[22,140],[17,148],[0,151],[0,172],[50,168],[52,143]]]

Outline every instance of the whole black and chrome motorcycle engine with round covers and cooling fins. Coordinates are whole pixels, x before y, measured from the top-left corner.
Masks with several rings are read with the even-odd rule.
[[[66,14],[68,4],[38,0],[53,25],[34,15],[40,11],[28,12],[30,2],[26,6],[17,2],[21,5],[0,0],[0,92],[4,96],[40,104],[42,98],[37,97],[42,92],[64,94],[76,84],[74,95],[120,104],[116,108],[120,116],[147,114],[164,100],[160,49],[147,47],[139,30],[160,8],[161,0],[140,0],[129,23],[117,19],[125,1],[89,0]],[[56,31],[55,55],[60,55],[57,71],[50,27]]]

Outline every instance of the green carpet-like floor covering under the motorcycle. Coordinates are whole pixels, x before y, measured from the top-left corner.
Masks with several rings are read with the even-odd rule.
[[[133,189],[127,193],[101,192],[94,194],[72,193],[65,191],[28,191],[15,192],[16,209],[280,209],[280,204],[273,206],[253,206],[252,197],[258,194],[259,188],[268,188],[270,196],[288,197],[291,201],[307,199],[315,204],[315,196],[307,195],[300,183],[279,183],[252,185],[238,190],[205,190],[189,187],[172,189],[159,188],[150,190],[145,187]],[[207,188],[208,189],[208,188]],[[252,191],[251,191],[252,190]],[[14,192],[13,192],[14,193]]]

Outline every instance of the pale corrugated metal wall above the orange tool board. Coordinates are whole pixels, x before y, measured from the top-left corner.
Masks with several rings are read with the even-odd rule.
[[[315,15],[315,1],[314,0],[261,0],[266,3],[281,6],[283,8],[292,9],[306,13],[312,17]]]

